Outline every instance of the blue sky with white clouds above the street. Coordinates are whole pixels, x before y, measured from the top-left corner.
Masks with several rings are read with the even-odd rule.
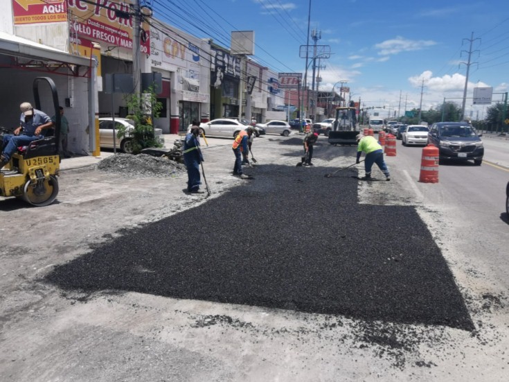
[[[304,73],[299,53],[316,31],[316,44],[330,46],[330,58],[319,60],[319,90],[339,92],[343,82],[352,99],[385,106],[387,116],[444,99],[461,107],[467,69],[465,116],[483,119],[489,107],[472,105],[474,87],[493,87],[494,102],[509,91],[507,0],[148,2],[156,17],[225,47],[231,31],[254,31],[251,58],[276,72]]]

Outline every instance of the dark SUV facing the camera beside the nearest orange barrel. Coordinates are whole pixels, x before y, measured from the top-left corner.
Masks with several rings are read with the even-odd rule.
[[[438,147],[440,160],[473,159],[474,164],[481,166],[484,156],[482,135],[467,122],[437,122],[431,125],[427,143]]]

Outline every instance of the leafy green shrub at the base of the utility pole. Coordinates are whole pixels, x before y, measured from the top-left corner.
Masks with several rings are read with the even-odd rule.
[[[131,132],[133,153],[139,153],[143,148],[162,147],[154,136],[154,118],[159,117],[163,108],[157,101],[157,94],[151,86],[142,94],[130,94],[126,99],[130,111],[129,118],[134,121],[134,131]],[[118,128],[117,137],[125,135],[125,127]]]

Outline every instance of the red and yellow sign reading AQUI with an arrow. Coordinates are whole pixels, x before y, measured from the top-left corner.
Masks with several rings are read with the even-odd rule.
[[[12,0],[14,24],[67,21],[66,0]]]

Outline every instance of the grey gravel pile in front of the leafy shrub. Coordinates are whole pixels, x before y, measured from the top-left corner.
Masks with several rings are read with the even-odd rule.
[[[168,177],[186,172],[184,164],[177,163],[167,157],[152,155],[130,155],[119,153],[111,155],[98,164],[100,171],[121,173],[125,177]]]

